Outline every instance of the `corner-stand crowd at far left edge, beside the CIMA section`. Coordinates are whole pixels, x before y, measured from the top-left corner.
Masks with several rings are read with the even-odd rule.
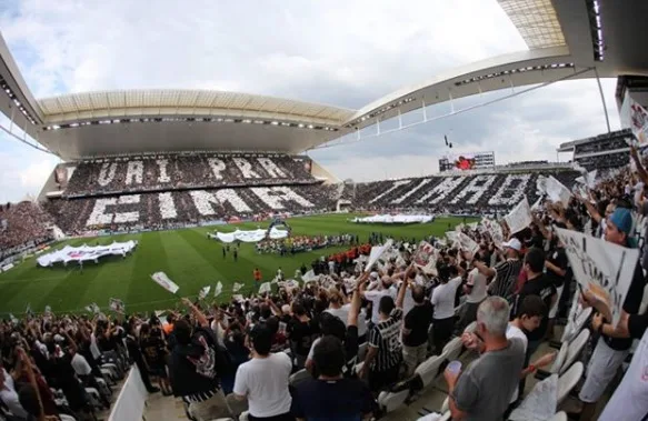
[[[52,240],[51,217],[38,203],[0,206],[0,262]]]

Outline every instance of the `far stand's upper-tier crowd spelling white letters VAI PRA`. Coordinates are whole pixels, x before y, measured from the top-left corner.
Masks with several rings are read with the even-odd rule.
[[[287,154],[169,154],[106,158],[77,164],[68,198],[179,189],[309,184],[317,180]]]

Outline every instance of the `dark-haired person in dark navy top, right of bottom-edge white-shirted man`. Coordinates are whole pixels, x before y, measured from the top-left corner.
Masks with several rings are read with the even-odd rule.
[[[313,361],[319,377],[297,385],[291,412],[298,419],[360,420],[368,418],[376,402],[358,379],[342,375],[345,349],[339,339],[328,335],[315,347]]]

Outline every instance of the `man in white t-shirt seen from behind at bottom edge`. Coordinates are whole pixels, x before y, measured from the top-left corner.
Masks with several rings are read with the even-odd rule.
[[[272,418],[276,421],[293,420],[290,414],[292,399],[288,391],[292,362],[283,352],[270,353],[272,332],[263,324],[256,325],[249,335],[252,359],[237,370],[233,393],[237,399],[248,399],[249,419]]]

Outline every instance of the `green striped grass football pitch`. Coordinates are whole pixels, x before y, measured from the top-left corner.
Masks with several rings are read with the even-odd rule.
[[[439,218],[425,224],[357,224],[348,221],[352,217],[355,215],[326,214],[292,218],[287,222],[292,228],[293,234],[352,233],[358,234],[360,241],[365,242],[371,232],[381,232],[396,239],[407,238],[408,241],[412,238],[420,241],[428,235],[441,237],[449,228],[462,221],[461,218]],[[96,245],[130,239],[138,240],[139,245],[126,258],[104,258],[97,264],[87,263],[82,270],[77,264],[38,268],[34,258],[26,259],[14,269],[0,273],[0,315],[22,314],[28,304],[36,313],[41,313],[46,305],[50,305],[56,313],[80,312],[92,302],[107,308],[110,298],[123,300],[127,312],[173,308],[179,301],[178,297],[167,292],[150,279],[150,274],[157,271],[166,272],[180,287],[178,295],[195,297],[206,285],[212,285],[213,291],[213,285],[221,281],[223,291],[218,301],[229,300],[233,282],[245,284],[242,293],[251,292],[255,288],[252,271],[256,267],[265,280],[272,279],[279,267],[286,277],[290,278],[302,262],[310,269],[310,263],[318,257],[348,249],[335,247],[280,257],[258,254],[253,244],[242,243],[238,261],[235,262],[231,252],[223,259],[225,244],[207,238],[207,233],[215,229],[228,232],[237,228],[242,230],[256,229],[258,225],[267,228],[268,223],[247,222],[60,242],[52,249],[66,244]],[[212,295],[208,300],[212,300]]]

